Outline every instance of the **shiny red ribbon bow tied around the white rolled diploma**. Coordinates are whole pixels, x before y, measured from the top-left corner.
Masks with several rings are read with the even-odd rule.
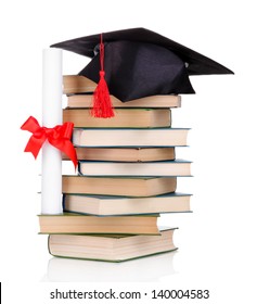
[[[77,153],[70,141],[73,127],[73,123],[64,123],[54,128],[40,127],[35,117],[28,117],[28,119],[22,125],[21,129],[30,131],[33,135],[29,138],[24,152],[31,152],[34,157],[37,159],[43,142],[48,140],[50,144],[64,152],[73,161],[76,168],[78,164]]]

